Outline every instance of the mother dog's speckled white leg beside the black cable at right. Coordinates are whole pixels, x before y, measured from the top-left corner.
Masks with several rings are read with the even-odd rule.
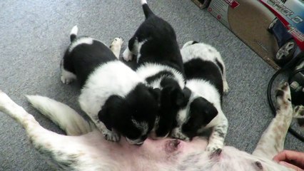
[[[253,155],[272,159],[283,150],[284,140],[291,120],[293,108],[291,105],[290,88],[288,83],[283,83],[275,91],[277,110],[275,118],[261,136]]]

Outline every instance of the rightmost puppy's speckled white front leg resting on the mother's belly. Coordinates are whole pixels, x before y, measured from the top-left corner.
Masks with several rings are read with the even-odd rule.
[[[212,133],[206,147],[207,151],[215,151],[223,148],[228,130],[228,120],[225,115],[221,115],[220,124],[213,127]]]

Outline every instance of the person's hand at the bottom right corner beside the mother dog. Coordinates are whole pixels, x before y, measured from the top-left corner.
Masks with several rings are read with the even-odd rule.
[[[280,165],[292,168],[296,171],[304,170],[304,152],[296,152],[291,150],[283,150],[278,155],[273,157],[273,160],[278,162]]]

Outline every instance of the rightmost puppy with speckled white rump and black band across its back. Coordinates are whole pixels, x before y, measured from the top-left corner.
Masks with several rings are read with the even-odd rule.
[[[228,92],[226,67],[216,48],[188,41],[181,48],[187,84],[191,90],[188,105],[178,112],[172,136],[191,140],[212,128],[207,150],[223,147],[228,120],[221,109],[223,93]]]

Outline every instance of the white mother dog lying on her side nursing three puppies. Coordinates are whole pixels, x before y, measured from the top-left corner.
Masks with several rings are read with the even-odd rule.
[[[268,129],[264,132],[255,152],[264,152],[260,154],[269,154],[271,149],[278,144],[283,143],[283,138],[289,128],[288,123],[279,125],[284,120],[292,118],[292,106],[287,98],[290,98],[290,91],[286,88],[285,95],[278,97],[280,106],[277,116],[270,123]],[[71,120],[78,120],[79,116],[68,106],[58,103],[48,98],[39,96],[30,96],[32,105],[38,107],[46,117],[59,124],[61,128],[69,128],[69,124],[62,114],[69,115]],[[59,135],[41,127],[34,117],[27,113],[24,108],[12,101],[9,96],[0,91],[0,111],[10,115],[16,121],[21,123],[29,136],[30,142],[34,145],[41,155],[44,155],[49,162],[52,162],[56,170],[228,170],[228,171],[256,171],[259,170],[256,162],[260,162],[263,170],[290,170],[283,165],[273,162],[273,156],[268,155],[250,155],[234,147],[223,147],[221,155],[214,155],[207,152],[205,139],[194,139],[192,142],[180,141],[177,146],[173,145],[176,140],[168,142],[166,140],[146,140],[141,147],[129,145],[125,141],[111,143],[103,140],[103,136],[97,130],[86,133],[87,125],[85,120],[78,120],[80,123],[71,129],[83,130],[83,135],[69,136]],[[55,117],[54,117],[55,116]],[[53,118],[53,119],[52,119]],[[70,125],[70,124],[69,124]],[[81,128],[84,126],[85,128]],[[283,132],[275,132],[275,129],[281,127]],[[79,128],[78,128],[79,127]],[[274,139],[275,137],[282,137]],[[267,141],[265,141],[265,138]],[[275,142],[273,140],[279,140]],[[168,142],[168,143],[167,143]],[[263,148],[260,148],[263,147]],[[280,146],[282,147],[282,146]],[[281,150],[281,149],[277,149]],[[276,151],[277,153],[278,151]]]

